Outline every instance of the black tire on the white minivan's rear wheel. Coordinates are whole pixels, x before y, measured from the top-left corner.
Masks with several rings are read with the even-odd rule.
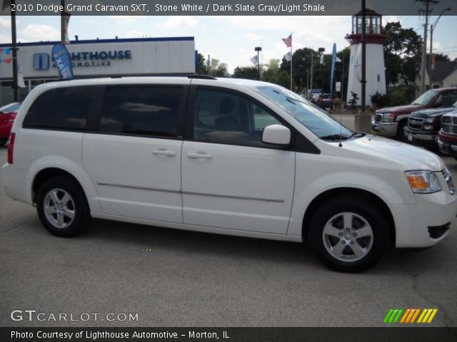
[[[54,203],[51,196],[51,190],[55,190],[52,195],[56,195],[56,202],[62,202],[66,199],[64,194],[68,194],[70,200],[66,204]],[[47,197],[49,195],[49,197]],[[56,213],[46,215],[45,207],[47,209],[56,208]],[[36,196],[36,210],[40,218],[41,224],[51,233],[59,237],[73,237],[81,234],[91,221],[91,214],[89,212],[89,205],[87,204],[86,196],[84,195],[81,186],[68,176],[52,177],[41,185]],[[66,214],[73,212],[73,218],[67,217]],[[59,217],[62,227],[56,227],[59,224]],[[53,224],[53,221],[55,222]],[[63,222],[63,223],[62,223]]]

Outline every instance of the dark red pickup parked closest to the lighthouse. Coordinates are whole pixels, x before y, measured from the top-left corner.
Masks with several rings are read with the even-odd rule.
[[[457,100],[451,101],[456,92],[457,88],[428,90],[413,100],[411,105],[376,110],[371,129],[378,135],[403,140],[403,129],[408,125],[408,116],[412,112],[428,108],[450,107]]]

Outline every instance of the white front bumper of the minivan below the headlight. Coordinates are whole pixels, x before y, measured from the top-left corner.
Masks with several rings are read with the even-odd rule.
[[[416,195],[416,200],[416,204],[396,204],[392,209],[398,248],[431,247],[456,227],[457,197],[448,190]]]

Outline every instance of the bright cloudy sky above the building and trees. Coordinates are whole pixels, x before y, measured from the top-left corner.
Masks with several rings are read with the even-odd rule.
[[[431,23],[436,21],[431,16]],[[386,21],[401,21],[404,28],[423,34],[419,16],[387,16]],[[18,16],[19,42],[59,41],[59,16]],[[457,58],[457,16],[442,16],[433,31],[433,52]],[[344,38],[351,32],[351,16],[72,16],[69,37],[141,38],[194,36],[196,50],[207,58],[227,63],[232,73],[236,66],[252,66],[254,48],[262,47],[261,63],[281,59],[289,48],[281,41],[293,35],[293,49],[320,47],[331,53],[348,46]],[[11,42],[9,16],[0,16],[0,43]]]

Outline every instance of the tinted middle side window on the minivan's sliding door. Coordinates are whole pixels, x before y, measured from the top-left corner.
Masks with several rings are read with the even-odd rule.
[[[181,89],[179,86],[106,88],[101,133],[176,137]]]

